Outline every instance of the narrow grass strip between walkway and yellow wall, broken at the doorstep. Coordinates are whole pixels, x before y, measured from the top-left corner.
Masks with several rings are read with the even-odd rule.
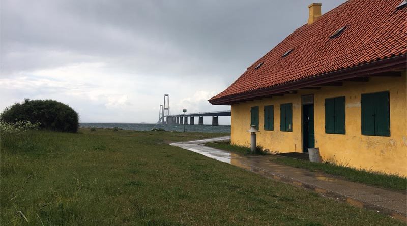
[[[247,147],[231,145],[230,143],[207,143],[205,145],[239,154],[248,154],[247,151],[250,151],[250,149]],[[332,163],[313,163],[296,158],[276,157],[271,159],[271,161],[295,168],[307,169],[312,172],[327,173],[339,176],[345,180],[364,183],[385,189],[407,191],[407,178],[397,175],[381,174],[367,170],[357,170]]]

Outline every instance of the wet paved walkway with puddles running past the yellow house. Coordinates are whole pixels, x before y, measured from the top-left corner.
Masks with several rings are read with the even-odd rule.
[[[230,136],[227,136],[198,141],[178,142],[172,143],[171,145],[215,158],[221,162],[259,173],[268,178],[314,190],[323,196],[334,197],[353,206],[376,210],[391,215],[394,218],[407,221],[406,193],[367,186],[342,180],[332,175],[276,164],[271,162],[271,159],[277,158],[277,156],[274,155],[242,156],[203,146],[203,144],[207,142],[226,141],[229,139]]]

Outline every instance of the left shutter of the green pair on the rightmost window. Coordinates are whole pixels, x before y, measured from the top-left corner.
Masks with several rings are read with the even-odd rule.
[[[374,135],[374,95],[362,94],[362,134]]]

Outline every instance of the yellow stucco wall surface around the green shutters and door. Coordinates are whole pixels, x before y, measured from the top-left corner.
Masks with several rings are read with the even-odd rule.
[[[407,73],[374,77],[369,82],[344,82],[340,87],[304,90],[231,106],[231,142],[250,145],[250,107],[259,107],[258,145],[275,152],[302,152],[301,96],[314,94],[315,147],[322,158],[350,167],[407,176]],[[361,133],[361,94],[390,91],[390,137]],[[345,96],[346,134],[325,133],[325,99]],[[293,132],[280,131],[280,104],[293,103]],[[274,131],[264,130],[264,106],[274,105]]]

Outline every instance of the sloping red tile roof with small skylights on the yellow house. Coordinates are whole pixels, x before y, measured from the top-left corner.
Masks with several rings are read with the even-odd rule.
[[[225,104],[224,100],[233,96],[406,55],[407,7],[396,9],[400,3],[401,0],[343,3],[313,24],[295,30],[209,102]],[[330,38],[343,26],[346,28],[339,36]],[[290,49],[293,51],[282,57]]]

